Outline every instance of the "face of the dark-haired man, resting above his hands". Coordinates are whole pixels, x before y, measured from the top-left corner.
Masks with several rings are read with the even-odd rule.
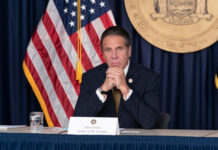
[[[109,67],[124,69],[131,56],[131,46],[125,45],[125,39],[119,35],[106,36],[102,42],[104,58]]]

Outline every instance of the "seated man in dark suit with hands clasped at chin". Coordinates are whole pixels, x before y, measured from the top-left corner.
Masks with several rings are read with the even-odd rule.
[[[129,60],[131,42],[123,28],[105,30],[101,47],[106,63],[83,74],[74,116],[118,117],[121,128],[153,128],[159,114],[159,76]]]

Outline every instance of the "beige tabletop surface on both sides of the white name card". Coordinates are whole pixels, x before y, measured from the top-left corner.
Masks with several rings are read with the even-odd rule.
[[[31,130],[30,127],[19,127],[0,129],[0,133],[67,134],[67,131],[59,127],[44,127],[41,131]],[[120,129],[120,135],[218,137],[218,130]]]

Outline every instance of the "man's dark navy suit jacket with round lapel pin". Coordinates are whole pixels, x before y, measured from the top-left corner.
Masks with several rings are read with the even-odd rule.
[[[105,80],[107,64],[102,64],[83,74],[80,95],[74,116],[116,117],[112,92],[102,103],[96,90]],[[129,82],[132,79],[132,83]],[[160,79],[150,69],[130,62],[126,76],[133,90],[127,101],[121,98],[118,119],[120,128],[153,128],[159,113]]]

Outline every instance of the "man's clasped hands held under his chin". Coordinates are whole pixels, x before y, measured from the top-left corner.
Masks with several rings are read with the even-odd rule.
[[[129,86],[126,83],[126,77],[122,68],[109,67],[106,71],[106,78],[101,86],[103,91],[109,91],[113,87],[120,89],[123,97],[125,98],[129,92]]]

